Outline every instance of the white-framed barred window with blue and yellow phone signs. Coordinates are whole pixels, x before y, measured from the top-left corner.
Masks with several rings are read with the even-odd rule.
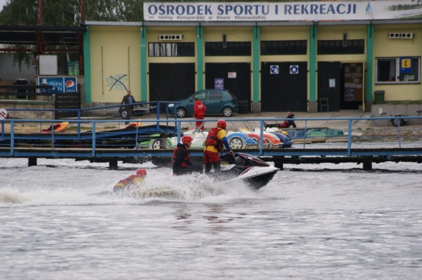
[[[401,68],[403,59],[410,67]],[[403,62],[404,63],[404,62]],[[421,83],[421,57],[376,57],[375,84],[419,84]]]

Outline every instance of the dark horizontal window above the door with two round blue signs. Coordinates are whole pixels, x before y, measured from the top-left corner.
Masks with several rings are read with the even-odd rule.
[[[261,55],[306,54],[306,40],[261,41]]]

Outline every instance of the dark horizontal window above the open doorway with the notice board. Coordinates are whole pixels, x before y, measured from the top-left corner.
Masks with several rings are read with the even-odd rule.
[[[365,40],[318,40],[318,54],[364,54]]]

